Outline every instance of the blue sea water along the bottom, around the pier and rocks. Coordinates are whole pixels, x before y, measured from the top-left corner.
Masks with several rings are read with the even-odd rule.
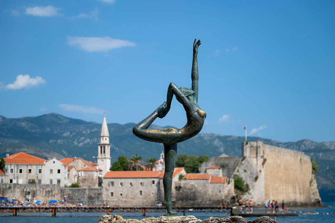
[[[321,213],[335,213],[335,203],[324,203],[331,207],[327,208],[291,208],[290,211],[297,211],[298,216],[287,216],[287,217],[277,217],[275,220],[279,223],[288,223],[288,222],[306,222],[306,223],[315,223],[315,222],[335,222],[334,215],[322,215]],[[256,208],[254,212],[264,212],[264,208]],[[303,215],[299,212],[319,212],[318,215]],[[48,222],[48,223],[96,223],[98,219],[104,213],[57,213],[57,217],[51,217],[51,213],[17,213],[16,217],[13,217],[11,213],[0,213],[0,222],[15,222],[15,223],[35,223],[35,222]],[[114,213],[110,213],[111,215]],[[115,213],[121,215],[123,218],[135,218],[142,219],[142,213]],[[145,217],[158,217],[163,213],[150,213],[147,212]],[[183,215],[183,213],[178,213]],[[223,218],[229,216],[229,214],[223,213],[204,213],[204,212],[191,212],[187,213],[189,215],[194,215],[197,218],[204,220],[211,216]],[[253,218],[246,218],[246,220],[254,220]]]

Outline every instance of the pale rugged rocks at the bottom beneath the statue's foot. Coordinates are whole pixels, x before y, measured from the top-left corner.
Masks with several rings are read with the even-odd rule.
[[[253,221],[246,221],[241,216],[229,216],[225,218],[214,218],[210,217],[203,221],[197,219],[193,215],[188,216],[177,216],[177,217],[165,217],[160,216],[158,218],[150,217],[142,220],[137,219],[123,219],[120,215],[103,215],[99,218],[97,223],[278,223],[276,220],[272,220],[268,216],[256,218]]]

